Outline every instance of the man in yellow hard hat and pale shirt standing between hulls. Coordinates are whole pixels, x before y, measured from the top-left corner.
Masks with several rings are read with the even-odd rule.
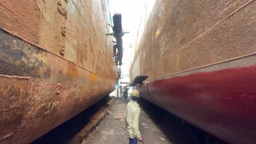
[[[139,99],[139,92],[138,90],[133,90],[131,92],[132,101],[127,104],[127,108],[125,111],[125,125],[126,128],[132,133],[133,135],[139,138],[139,142],[143,143],[143,138],[138,130],[139,124],[139,113],[141,113],[141,109],[139,109],[138,99]],[[129,134],[129,144],[137,144],[138,140],[132,134]]]

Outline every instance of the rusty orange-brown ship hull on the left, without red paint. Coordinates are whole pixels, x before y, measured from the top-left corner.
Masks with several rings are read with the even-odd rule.
[[[0,2],[0,143],[30,143],[114,90],[108,1]]]

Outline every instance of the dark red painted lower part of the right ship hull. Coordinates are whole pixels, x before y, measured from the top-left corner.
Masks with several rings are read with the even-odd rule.
[[[256,141],[256,65],[162,77],[141,96],[230,143]]]

